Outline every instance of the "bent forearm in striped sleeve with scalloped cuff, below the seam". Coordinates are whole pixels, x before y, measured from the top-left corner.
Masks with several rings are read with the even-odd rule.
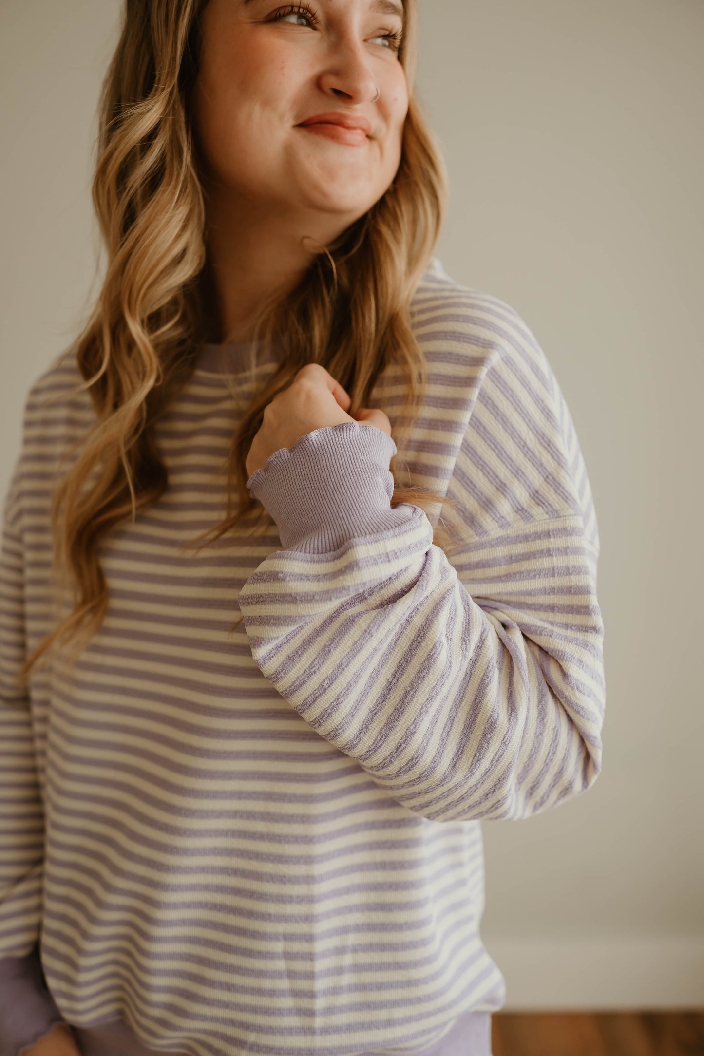
[[[422,510],[389,507],[391,442],[323,429],[254,475],[286,549],[240,593],[252,656],[410,810],[440,822],[547,810],[601,766],[603,625],[581,518],[468,544],[476,601]],[[581,595],[579,610],[556,616],[555,595]]]

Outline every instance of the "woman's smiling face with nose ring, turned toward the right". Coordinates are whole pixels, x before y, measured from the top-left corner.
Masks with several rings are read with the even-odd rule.
[[[343,230],[398,171],[401,0],[209,0],[201,17],[194,132],[207,178],[252,210],[324,213]],[[302,125],[330,111],[368,128]]]

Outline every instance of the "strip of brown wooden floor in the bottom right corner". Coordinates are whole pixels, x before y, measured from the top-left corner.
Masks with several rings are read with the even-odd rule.
[[[704,1056],[704,1011],[497,1012],[492,1056]]]

